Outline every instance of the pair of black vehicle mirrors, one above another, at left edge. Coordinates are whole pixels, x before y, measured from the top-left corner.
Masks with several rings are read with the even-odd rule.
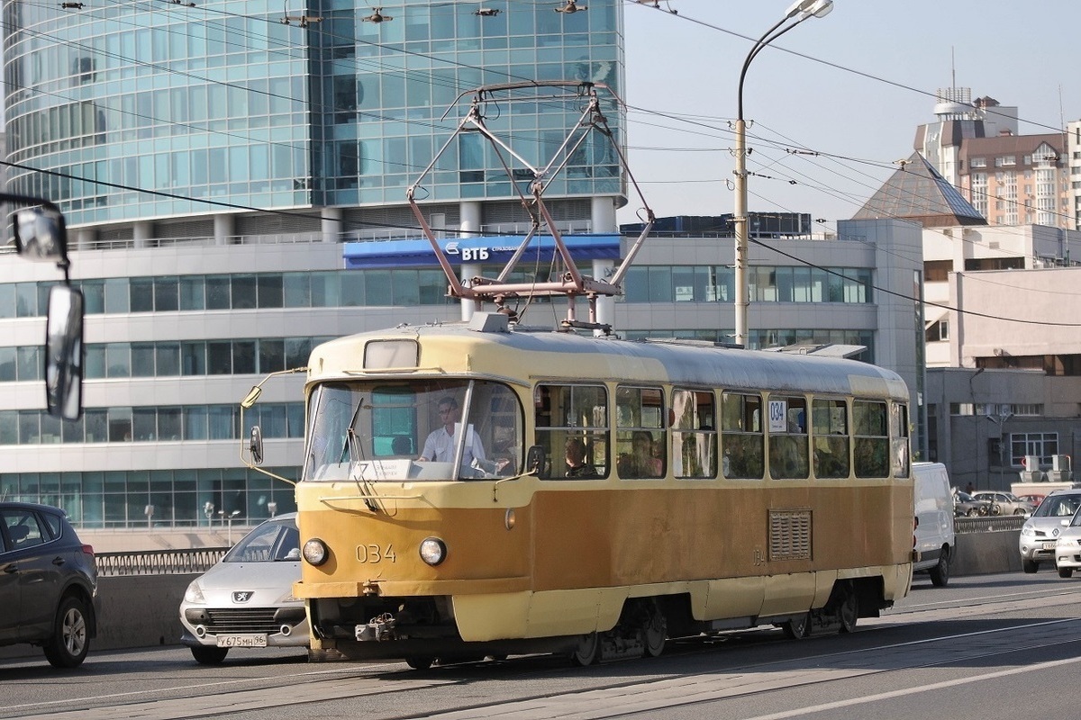
[[[45,407],[49,415],[78,420],[82,415],[83,298],[71,287],[64,214],[48,200],[0,193],[10,203],[15,250],[35,262],[55,262],[64,271],[64,284],[49,291],[45,313]]]

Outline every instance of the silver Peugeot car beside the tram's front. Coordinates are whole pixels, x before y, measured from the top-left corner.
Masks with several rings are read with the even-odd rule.
[[[296,513],[288,513],[191,581],[181,602],[181,642],[204,665],[217,665],[231,648],[307,647],[304,601],[293,597],[299,579],[301,535]]]

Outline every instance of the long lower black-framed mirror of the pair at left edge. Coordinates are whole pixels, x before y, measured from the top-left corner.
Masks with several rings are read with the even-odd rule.
[[[49,290],[45,321],[45,406],[49,415],[78,420],[82,415],[82,293],[69,285]]]

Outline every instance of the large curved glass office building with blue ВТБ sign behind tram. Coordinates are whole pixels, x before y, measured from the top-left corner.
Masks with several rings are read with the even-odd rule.
[[[41,410],[40,355],[58,273],[0,252],[0,498],[61,505],[86,530],[218,527],[235,513],[252,524],[291,510],[292,487],[246,470],[240,448],[258,422],[269,468],[297,476],[303,378],[268,383],[241,418],[249,389],[305,365],[324,339],[464,313],[433,257],[355,267],[346,248],[421,237],[405,190],[478,86],[566,80],[622,92],[622,0],[573,14],[490,4],[501,12],[410,0],[384,4],[378,23],[371,6],[338,1],[4,6],[8,190],[64,209],[88,314],[84,415],[59,423]],[[624,144],[625,118],[605,97]],[[582,105],[537,93],[483,111],[493,133],[544,164]],[[615,243],[609,263],[629,242],[615,223],[626,202],[616,160],[586,142],[545,193],[565,236]],[[520,179],[463,134],[417,198],[441,239],[522,233]],[[918,231],[867,221],[857,242],[803,241],[843,282],[752,255],[752,344],[855,342],[905,373],[877,328],[915,315],[871,287],[896,272],[910,284],[911,269],[896,266],[913,236],[918,246]],[[731,239],[648,242],[614,326],[726,340],[732,252]],[[600,257],[584,257],[584,271],[592,261],[597,276]]]

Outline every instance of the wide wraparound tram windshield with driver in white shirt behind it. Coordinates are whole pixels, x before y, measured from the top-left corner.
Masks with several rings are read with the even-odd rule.
[[[308,419],[305,481],[467,480],[521,472],[521,404],[497,382],[328,382],[311,393]]]

